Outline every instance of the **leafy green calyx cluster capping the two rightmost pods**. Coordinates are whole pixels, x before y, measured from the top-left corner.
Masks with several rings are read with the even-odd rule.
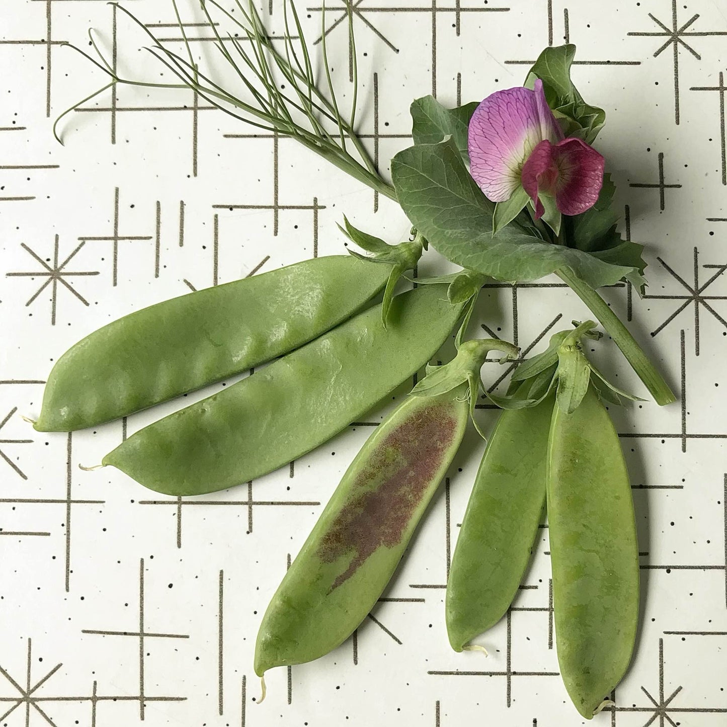
[[[598,397],[607,403],[622,406],[624,399],[643,401],[608,382],[586,358],[582,340],[598,340],[602,336],[595,330],[595,322],[573,321],[573,324],[573,330],[553,334],[547,350],[518,367],[510,379],[507,394],[491,397],[497,406],[502,409],[536,406],[555,388],[558,407],[566,414],[571,414],[583,401],[590,385],[593,385]]]

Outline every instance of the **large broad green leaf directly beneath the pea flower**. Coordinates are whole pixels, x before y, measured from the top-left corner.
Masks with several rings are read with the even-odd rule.
[[[419,144],[391,162],[398,201],[414,227],[447,260],[501,281],[531,281],[564,265],[593,288],[639,275],[618,254],[607,260],[534,236],[513,220],[495,235],[494,204],[470,177],[451,139]]]

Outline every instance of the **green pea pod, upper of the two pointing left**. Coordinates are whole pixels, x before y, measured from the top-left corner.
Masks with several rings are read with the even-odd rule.
[[[361,310],[393,270],[414,265],[422,250],[421,243],[381,244],[387,249],[378,260],[304,260],[103,326],[58,359],[36,430],[66,432],[118,419],[313,340]]]

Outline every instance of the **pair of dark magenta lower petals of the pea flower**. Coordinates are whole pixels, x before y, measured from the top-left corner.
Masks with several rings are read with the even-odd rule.
[[[581,214],[598,200],[603,184],[603,156],[580,139],[563,139],[553,145],[545,139],[523,164],[523,189],[535,206],[535,219],[542,217],[539,193],[555,195],[555,206],[563,214]]]

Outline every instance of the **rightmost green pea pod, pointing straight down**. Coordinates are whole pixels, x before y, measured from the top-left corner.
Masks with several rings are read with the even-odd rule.
[[[547,513],[561,676],[593,717],[629,665],[638,624],[633,502],[619,436],[590,387],[580,406],[553,409]]]

